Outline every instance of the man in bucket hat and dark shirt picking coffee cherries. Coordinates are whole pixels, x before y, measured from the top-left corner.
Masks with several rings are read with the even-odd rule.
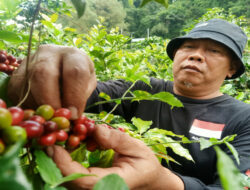
[[[244,72],[242,52],[247,42],[242,30],[221,19],[199,23],[186,36],[171,40],[167,53],[173,59],[174,82],[151,79],[151,87],[138,82],[133,90],[150,93],[172,92],[182,101],[184,108],[174,108],[158,101],[140,103],[122,102],[116,110],[126,120],[133,116],[152,120],[153,127],[171,130],[189,139],[214,137],[222,139],[237,134],[233,145],[240,158],[238,168],[245,173],[250,168],[250,106],[220,92],[224,79],[236,78]],[[35,63],[35,64],[34,64]],[[16,100],[23,83],[25,65],[12,76],[9,94]],[[49,103],[55,108],[69,107],[74,117],[86,106],[99,101],[98,93],[105,92],[112,98],[120,97],[129,87],[124,81],[98,82],[89,58],[77,49],[43,46],[33,56],[29,68],[31,93],[28,103]],[[72,74],[73,73],[73,74]],[[71,77],[68,77],[71,76]],[[59,81],[62,80],[62,83]],[[62,86],[59,86],[62,85]],[[60,97],[62,90],[62,98]],[[92,111],[109,110],[105,104]],[[48,149],[64,175],[91,173],[69,184],[73,189],[91,189],[96,181],[107,174],[117,173],[131,189],[202,190],[222,189],[216,172],[216,154],[212,148],[199,150],[199,144],[188,144],[195,163],[168,151],[181,165],[159,164],[153,152],[142,142],[116,130],[97,126],[94,137],[103,148],[117,152],[111,168],[83,168],[72,162],[61,147]],[[231,157],[232,154],[221,146]],[[232,157],[233,158],[233,157]]]

